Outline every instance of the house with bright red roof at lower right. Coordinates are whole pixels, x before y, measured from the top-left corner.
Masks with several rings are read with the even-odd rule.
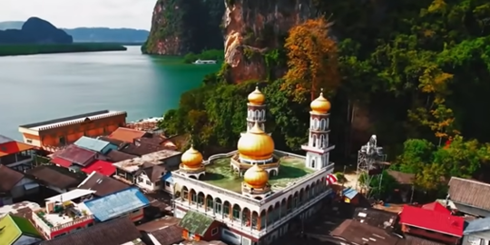
[[[422,207],[405,205],[399,215],[401,230],[409,235],[457,245],[463,237],[465,220],[453,216],[438,202]]]

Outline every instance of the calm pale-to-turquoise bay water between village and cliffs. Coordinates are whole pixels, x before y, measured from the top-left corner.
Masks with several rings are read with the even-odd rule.
[[[181,93],[201,84],[219,64],[126,52],[0,57],[0,134],[21,139],[17,127],[77,113],[128,112],[128,121],[162,116]]]

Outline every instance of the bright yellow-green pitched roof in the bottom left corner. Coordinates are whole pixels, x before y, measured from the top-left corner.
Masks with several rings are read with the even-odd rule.
[[[0,220],[0,229],[0,245],[14,244],[23,234],[41,237],[31,221],[10,214]]]

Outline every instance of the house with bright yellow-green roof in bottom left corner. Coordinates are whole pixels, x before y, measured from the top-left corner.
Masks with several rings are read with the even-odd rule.
[[[33,245],[42,240],[31,221],[11,214],[0,218],[1,245]]]

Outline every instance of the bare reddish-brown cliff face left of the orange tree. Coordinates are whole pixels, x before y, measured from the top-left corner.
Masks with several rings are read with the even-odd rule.
[[[233,83],[267,76],[263,55],[280,48],[289,29],[315,17],[311,0],[226,0],[223,17],[225,62]]]

